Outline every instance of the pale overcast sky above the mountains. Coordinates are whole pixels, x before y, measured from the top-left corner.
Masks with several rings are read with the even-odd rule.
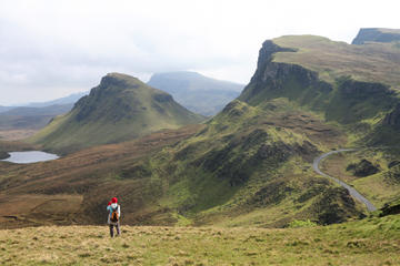
[[[399,0],[0,0],[0,105],[88,91],[108,72],[193,70],[248,83],[283,34],[351,42],[400,29]]]

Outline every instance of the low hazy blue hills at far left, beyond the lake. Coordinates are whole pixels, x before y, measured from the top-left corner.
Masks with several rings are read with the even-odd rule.
[[[0,113],[0,130],[39,130],[49,121],[72,109],[72,103],[44,108],[13,108]]]

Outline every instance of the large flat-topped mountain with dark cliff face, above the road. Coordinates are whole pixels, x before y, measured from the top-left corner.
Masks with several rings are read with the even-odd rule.
[[[398,55],[386,43],[358,47],[313,35],[273,39],[263,43],[259,68],[239,99],[254,106],[287,98],[340,126],[348,145],[394,144],[400,139]]]

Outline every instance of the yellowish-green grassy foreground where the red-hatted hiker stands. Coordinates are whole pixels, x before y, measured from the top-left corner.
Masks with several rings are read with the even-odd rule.
[[[49,226],[0,231],[1,265],[400,265],[400,215],[260,229]]]

